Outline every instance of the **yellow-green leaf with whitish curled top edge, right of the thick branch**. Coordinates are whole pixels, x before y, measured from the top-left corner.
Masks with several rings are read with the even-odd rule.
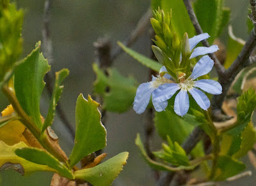
[[[235,61],[238,54],[241,52],[245,41],[240,38],[236,38],[232,31],[232,26],[228,26],[228,47],[227,47],[227,57],[225,60],[224,67],[229,68],[231,64]]]

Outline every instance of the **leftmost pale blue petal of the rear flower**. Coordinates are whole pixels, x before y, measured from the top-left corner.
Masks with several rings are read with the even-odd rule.
[[[150,83],[142,83],[138,87],[133,103],[133,110],[136,113],[141,114],[146,110],[153,90],[150,87]]]

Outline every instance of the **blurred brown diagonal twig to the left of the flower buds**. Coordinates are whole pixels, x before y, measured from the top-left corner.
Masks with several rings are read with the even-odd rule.
[[[136,39],[138,39],[138,37],[141,36],[141,34],[143,34],[145,29],[147,28],[147,25],[150,22],[150,17],[152,17],[151,8],[149,8],[148,11],[145,13],[145,15],[143,15],[140,18],[134,31],[132,31],[129,37],[125,39],[125,41],[123,42],[126,47],[130,47],[136,41]],[[111,61],[115,61],[116,57],[118,57],[118,55],[120,55],[122,52],[124,52],[122,48],[120,47],[116,48],[113,51],[113,54],[111,55]]]

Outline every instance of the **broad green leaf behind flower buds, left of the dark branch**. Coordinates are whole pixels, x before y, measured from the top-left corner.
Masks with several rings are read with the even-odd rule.
[[[183,3],[183,1],[177,0],[162,0],[161,8],[164,12],[170,12],[172,8],[172,26],[174,31],[178,34],[179,39],[183,38],[185,32],[191,38],[195,35],[195,29],[188,16],[188,11]],[[182,23],[182,24],[181,24]]]

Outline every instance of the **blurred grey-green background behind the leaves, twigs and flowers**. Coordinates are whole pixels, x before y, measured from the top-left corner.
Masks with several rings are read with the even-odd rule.
[[[22,57],[26,57],[35,47],[38,40],[42,40],[44,0],[15,1],[19,8],[24,8],[26,14],[22,29],[24,38],[24,51]],[[240,38],[248,38],[246,25],[249,1],[226,0],[225,6],[231,8],[231,20],[234,34]],[[62,68],[68,68],[70,75],[65,80],[65,88],[60,102],[67,114],[68,120],[75,125],[76,99],[80,93],[92,94],[92,83],[95,75],[92,71],[94,61],[93,42],[97,38],[106,36],[111,39],[113,49],[116,41],[124,41],[140,17],[148,10],[149,0],[56,0],[51,9],[51,39],[52,39],[52,64],[51,73]],[[150,56],[150,36],[145,32],[132,47],[134,50]],[[227,43],[227,29],[221,36],[221,41]],[[118,68],[124,76],[132,75],[138,82],[147,82],[148,69],[134,61],[127,54],[120,55],[113,66]],[[8,102],[0,93],[0,110],[3,110]],[[44,92],[42,98],[42,113],[45,115],[48,108],[49,96]],[[68,131],[61,124],[58,117],[55,118],[52,128],[58,134],[61,147],[70,154],[73,141]],[[108,146],[104,152],[108,152],[106,159],[114,155],[128,151],[129,159],[124,171],[115,180],[113,185],[154,185],[152,171],[141,159],[138,148],[134,144],[136,133],[143,131],[143,115],[136,115],[131,109],[124,114],[108,113],[106,124],[108,131]],[[160,147],[160,140],[156,136],[153,148]],[[246,160],[246,159],[245,159]],[[248,169],[253,170],[252,166]],[[12,170],[0,173],[0,185],[50,185],[52,173],[35,173],[22,177]],[[231,185],[254,185],[255,175],[238,180]]]

